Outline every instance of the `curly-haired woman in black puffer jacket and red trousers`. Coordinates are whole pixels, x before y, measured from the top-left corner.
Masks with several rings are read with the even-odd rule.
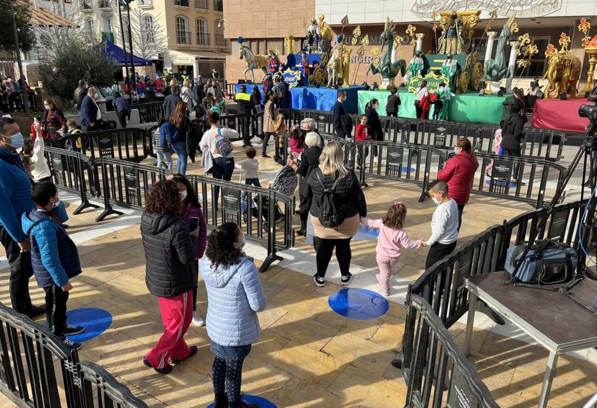
[[[182,200],[176,183],[158,181],[149,190],[141,216],[141,240],[146,259],[147,289],[158,296],[164,334],[144,357],[143,364],[167,374],[173,363],[197,353],[197,347],[184,342],[184,333],[193,317],[191,299],[196,276],[199,228],[189,231],[180,216]]]

